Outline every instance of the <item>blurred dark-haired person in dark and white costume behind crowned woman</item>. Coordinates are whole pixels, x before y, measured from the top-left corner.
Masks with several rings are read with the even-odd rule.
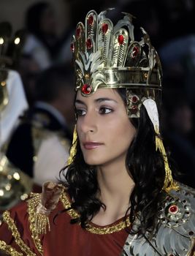
[[[36,83],[36,102],[21,119],[7,148],[7,158],[35,184],[58,181],[69,157],[74,113],[72,69],[50,67]]]

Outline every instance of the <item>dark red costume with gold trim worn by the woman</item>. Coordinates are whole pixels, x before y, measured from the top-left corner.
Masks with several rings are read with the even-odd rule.
[[[9,211],[4,213],[5,222],[0,229],[0,245],[3,249],[2,241],[7,244],[4,244],[5,252],[10,253],[9,246],[12,246],[12,250],[15,248],[18,254],[15,252],[10,255],[20,255],[19,252],[28,256],[121,255],[128,236],[126,225],[129,225],[129,222],[119,219],[104,227],[89,222],[88,230],[84,230],[79,224],[70,223],[77,213],[72,210],[64,211],[69,207],[69,197],[63,192],[49,216],[50,231],[37,236],[34,216],[38,200],[39,195],[34,194],[26,203],[13,208],[10,214]]]

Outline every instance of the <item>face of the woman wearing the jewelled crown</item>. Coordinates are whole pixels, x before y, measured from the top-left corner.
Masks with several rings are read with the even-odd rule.
[[[136,129],[130,123],[123,99],[115,89],[97,89],[90,97],[77,92],[77,135],[88,165],[126,161]]]

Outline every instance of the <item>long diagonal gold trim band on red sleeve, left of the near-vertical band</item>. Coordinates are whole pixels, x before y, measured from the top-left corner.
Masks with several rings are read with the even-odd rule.
[[[7,223],[9,229],[12,231],[12,236],[15,238],[15,243],[20,246],[20,249],[26,253],[28,256],[36,256],[34,252],[31,252],[31,249],[24,243],[24,241],[20,237],[20,233],[18,232],[18,228],[16,227],[14,220],[10,217],[9,211],[5,211],[3,214],[4,222]]]

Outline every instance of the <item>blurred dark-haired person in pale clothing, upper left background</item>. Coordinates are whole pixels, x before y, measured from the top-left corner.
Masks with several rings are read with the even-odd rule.
[[[58,35],[56,12],[52,4],[41,1],[28,8],[26,32],[23,53],[30,55],[39,69],[46,69],[59,62],[64,40]]]

